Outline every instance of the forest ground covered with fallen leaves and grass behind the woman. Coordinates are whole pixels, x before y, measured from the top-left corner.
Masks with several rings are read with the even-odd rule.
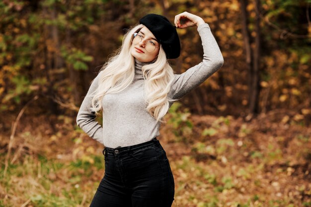
[[[284,112],[242,118],[172,108],[158,139],[175,179],[173,207],[311,207],[311,129]],[[49,124],[53,123],[53,125]],[[0,135],[0,207],[87,207],[103,146],[58,116],[24,117],[8,155]]]

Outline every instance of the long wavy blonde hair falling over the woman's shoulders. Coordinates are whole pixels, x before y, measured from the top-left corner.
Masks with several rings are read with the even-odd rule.
[[[135,76],[135,59],[130,53],[133,33],[138,32],[144,25],[139,24],[129,29],[122,40],[122,46],[116,50],[114,56],[99,70],[98,87],[91,94],[92,111],[96,115],[102,110],[102,99],[106,94],[118,93],[128,87]],[[166,55],[160,46],[156,60],[142,67],[145,79],[144,99],[147,104],[146,110],[156,119],[163,123],[163,117],[169,108],[169,102],[178,99],[170,99],[167,94],[174,79],[174,71],[167,62]]]

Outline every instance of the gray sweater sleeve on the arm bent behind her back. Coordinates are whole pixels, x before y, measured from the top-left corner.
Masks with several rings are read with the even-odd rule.
[[[93,98],[91,94],[98,87],[98,77],[99,75],[97,75],[92,81],[87,94],[82,101],[76,121],[78,127],[80,127],[89,137],[103,144],[103,128],[95,121],[95,112],[90,110]]]

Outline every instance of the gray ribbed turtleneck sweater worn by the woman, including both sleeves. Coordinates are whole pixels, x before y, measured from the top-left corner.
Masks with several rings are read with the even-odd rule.
[[[168,93],[170,98],[181,98],[220,69],[224,63],[209,25],[201,24],[197,30],[202,40],[203,61],[182,74],[174,74],[175,78]],[[117,94],[103,97],[102,126],[95,121],[96,116],[89,109],[92,100],[89,95],[98,87],[97,75],[78,111],[78,127],[89,137],[111,148],[139,144],[159,136],[160,123],[146,110],[143,97],[145,80],[142,67],[146,64],[135,59],[135,77],[131,85]],[[172,102],[169,107],[171,105]]]

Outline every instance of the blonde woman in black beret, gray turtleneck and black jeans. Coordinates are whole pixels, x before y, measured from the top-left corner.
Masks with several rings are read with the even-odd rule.
[[[183,24],[181,24],[183,21]],[[209,25],[194,14],[148,14],[124,36],[121,48],[92,81],[77,125],[99,141],[105,174],[91,207],[170,207],[174,178],[159,140],[159,126],[174,101],[223,65]],[[174,74],[167,59],[180,55],[176,28],[197,26],[203,61]],[[102,113],[103,126],[94,119]]]

